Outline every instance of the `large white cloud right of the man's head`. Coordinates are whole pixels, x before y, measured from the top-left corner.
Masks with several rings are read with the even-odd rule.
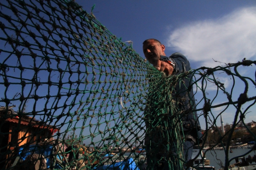
[[[243,8],[216,20],[193,22],[172,31],[167,46],[198,66],[215,67],[256,54],[256,8]]]

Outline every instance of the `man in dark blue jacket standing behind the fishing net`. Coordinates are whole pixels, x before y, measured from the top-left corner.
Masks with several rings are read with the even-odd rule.
[[[186,71],[189,71],[190,64],[187,60],[187,58],[182,55],[181,53],[174,53],[170,57],[167,57],[165,55],[165,46],[161,44],[160,41],[156,39],[147,39],[143,42],[143,53],[147,60],[152,64],[156,69],[159,71],[163,71],[167,76],[168,75],[179,75],[181,73],[185,73]],[[173,111],[177,113],[181,113],[180,118],[176,119],[180,121],[181,127],[180,132],[178,133],[180,135],[180,139],[170,139],[171,135],[174,136],[174,134],[168,131],[172,130],[172,127],[166,127],[168,126],[168,123],[165,122],[164,125],[159,124],[156,119],[158,119],[160,116],[158,115],[158,118],[154,116],[154,114],[157,114],[155,108],[148,109],[150,107],[150,102],[148,102],[148,106],[145,109],[145,117],[149,117],[146,121],[146,127],[148,132],[146,132],[145,137],[145,144],[147,145],[147,162],[148,166],[153,166],[151,168],[153,169],[169,169],[169,166],[173,166],[173,169],[183,169],[181,165],[177,165],[175,162],[177,162],[177,159],[175,158],[175,154],[177,155],[178,151],[178,143],[182,141],[183,143],[183,156],[184,160],[187,162],[191,159],[192,152],[193,152],[193,145],[197,142],[197,139],[199,139],[201,136],[201,133],[198,131],[200,130],[200,124],[198,122],[197,113],[191,112],[191,110],[195,109],[195,99],[193,95],[193,88],[190,86],[191,84],[192,75],[187,75],[186,78],[180,79],[179,82],[174,85],[172,92],[171,92],[171,100],[176,101],[177,110]],[[156,92],[159,90],[158,87],[154,87],[156,90],[152,93],[149,93],[150,97],[149,99],[152,100],[152,98],[156,98],[154,96],[158,96],[161,91]],[[188,90],[188,88],[190,90]],[[154,102],[155,103],[155,102]],[[152,105],[154,103],[151,102]],[[160,105],[159,103],[157,105]],[[175,105],[175,104],[174,104]],[[168,106],[167,106],[168,107]],[[151,115],[150,115],[151,114]],[[159,120],[158,120],[159,121]],[[172,121],[172,120],[168,120]],[[163,126],[165,126],[163,128]],[[171,125],[172,126],[172,125]],[[161,127],[161,132],[158,130],[158,127]],[[151,129],[150,129],[151,128]],[[155,129],[154,129],[155,128]],[[164,130],[166,129],[166,131]],[[157,131],[154,133],[154,131]],[[164,132],[165,131],[165,132]],[[151,134],[150,134],[151,133]],[[154,138],[166,138],[166,136],[169,136],[167,139],[157,139],[158,142]],[[159,144],[161,143],[163,146],[161,147]],[[171,143],[171,147],[169,147]],[[156,148],[157,149],[154,149]],[[163,151],[159,151],[161,149],[159,148],[169,148],[169,151],[167,149]],[[181,147],[182,148],[182,147]],[[171,152],[170,152],[171,150]],[[154,152],[156,152],[154,154]],[[172,153],[172,154],[170,154]],[[171,155],[171,156],[170,156]],[[174,155],[174,156],[173,156]],[[178,157],[178,156],[177,156]],[[171,161],[170,161],[171,160]],[[171,165],[170,162],[173,164]],[[186,168],[186,167],[185,167]]]

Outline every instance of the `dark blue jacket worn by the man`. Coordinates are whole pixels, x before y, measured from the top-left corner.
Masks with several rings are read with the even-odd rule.
[[[163,58],[167,57],[161,56],[161,59]],[[170,58],[173,58],[175,62],[175,68],[172,75],[179,75],[191,70],[189,61],[181,53],[174,53]],[[172,95],[173,98],[176,99],[178,109],[183,111],[183,115],[181,116],[183,131],[187,134],[188,139],[195,141],[198,137],[202,137],[202,133],[200,132],[200,123],[198,121],[197,112],[191,112],[191,110],[195,110],[195,98],[191,84],[191,74],[187,75],[184,79],[179,79]],[[188,92],[189,88],[190,90]]]

